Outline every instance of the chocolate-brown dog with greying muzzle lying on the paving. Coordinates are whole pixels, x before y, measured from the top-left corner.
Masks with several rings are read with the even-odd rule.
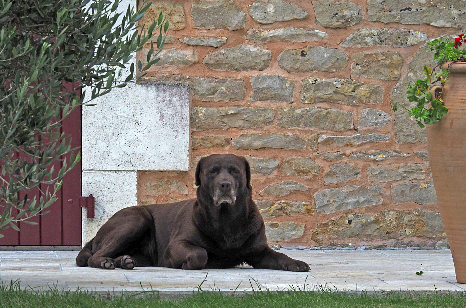
[[[213,154],[196,168],[197,199],[123,208],[76,257],[78,266],[201,269],[254,268],[308,271],[308,264],[267,245],[252,200],[244,157]]]

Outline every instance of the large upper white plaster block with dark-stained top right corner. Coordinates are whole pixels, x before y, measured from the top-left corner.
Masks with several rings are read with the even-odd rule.
[[[189,86],[130,83],[92,103],[82,107],[83,170],[188,170]]]

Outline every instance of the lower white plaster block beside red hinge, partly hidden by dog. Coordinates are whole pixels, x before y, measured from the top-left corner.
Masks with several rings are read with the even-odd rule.
[[[136,181],[136,171],[82,172],[82,195],[92,194],[96,205],[96,218],[87,218],[87,208],[82,208],[82,245],[96,236],[113,214],[137,205]]]

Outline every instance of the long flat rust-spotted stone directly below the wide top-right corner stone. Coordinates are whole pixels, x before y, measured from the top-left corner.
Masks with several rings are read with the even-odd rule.
[[[362,28],[350,34],[340,44],[342,47],[408,47],[427,40],[427,34],[402,28]]]

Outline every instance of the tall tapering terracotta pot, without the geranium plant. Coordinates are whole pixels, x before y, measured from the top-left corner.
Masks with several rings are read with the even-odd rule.
[[[426,125],[427,152],[456,281],[466,283],[466,62],[449,70],[442,95],[448,112],[438,123]]]

